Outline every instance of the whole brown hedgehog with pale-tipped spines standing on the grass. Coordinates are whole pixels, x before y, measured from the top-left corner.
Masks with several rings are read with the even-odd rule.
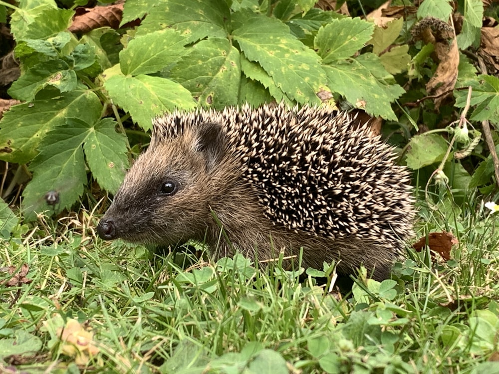
[[[205,243],[260,262],[390,276],[412,235],[410,173],[393,148],[346,112],[285,104],[175,111],[100,220],[106,240]],[[301,256],[301,257],[300,257]]]

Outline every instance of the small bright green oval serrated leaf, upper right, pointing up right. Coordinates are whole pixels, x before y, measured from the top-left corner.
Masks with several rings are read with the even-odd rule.
[[[355,54],[371,39],[374,24],[360,18],[335,19],[319,28],[314,48],[324,64],[344,60]]]

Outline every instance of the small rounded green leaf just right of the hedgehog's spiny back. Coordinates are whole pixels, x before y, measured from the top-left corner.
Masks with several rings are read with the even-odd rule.
[[[412,170],[418,170],[439,163],[444,159],[447,147],[445,139],[438,134],[413,136],[407,151],[407,166]]]

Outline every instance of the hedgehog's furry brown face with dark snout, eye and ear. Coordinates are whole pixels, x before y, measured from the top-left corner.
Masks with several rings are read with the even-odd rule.
[[[224,143],[222,127],[209,123],[153,144],[126,175],[99,236],[162,245],[203,239]]]

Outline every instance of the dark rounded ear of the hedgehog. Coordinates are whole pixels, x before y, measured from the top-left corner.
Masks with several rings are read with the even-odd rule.
[[[225,154],[225,131],[222,125],[214,122],[205,123],[197,129],[196,150],[206,158],[208,170],[217,165]]]

